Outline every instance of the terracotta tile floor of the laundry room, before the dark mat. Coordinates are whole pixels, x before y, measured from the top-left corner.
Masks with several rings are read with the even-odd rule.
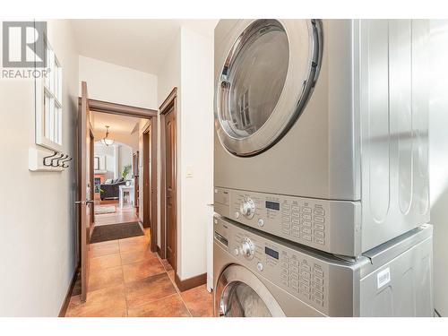
[[[211,316],[205,285],[180,292],[174,271],[149,249],[149,234],[90,245],[87,301],[75,286],[65,316]]]

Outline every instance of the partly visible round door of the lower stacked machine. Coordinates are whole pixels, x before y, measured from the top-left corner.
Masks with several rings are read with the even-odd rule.
[[[215,314],[222,317],[285,316],[263,282],[239,265],[228,266],[220,275],[215,293]]]

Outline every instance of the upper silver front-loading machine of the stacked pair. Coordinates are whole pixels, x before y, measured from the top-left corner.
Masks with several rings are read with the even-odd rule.
[[[356,256],[429,221],[428,22],[223,20],[215,211]]]

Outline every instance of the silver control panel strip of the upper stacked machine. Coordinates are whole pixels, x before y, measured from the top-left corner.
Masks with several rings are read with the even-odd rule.
[[[354,246],[356,223],[360,222],[360,204],[357,202],[225,188],[215,188],[214,202],[215,211],[220,215],[272,235],[329,253],[359,254]],[[335,222],[340,223],[337,234],[342,237],[340,246],[345,250],[332,250],[332,224]]]

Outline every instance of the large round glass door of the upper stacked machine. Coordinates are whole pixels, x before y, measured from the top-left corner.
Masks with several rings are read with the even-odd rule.
[[[220,142],[237,156],[269,149],[296,122],[321,62],[320,22],[243,21],[216,73],[215,125]]]

